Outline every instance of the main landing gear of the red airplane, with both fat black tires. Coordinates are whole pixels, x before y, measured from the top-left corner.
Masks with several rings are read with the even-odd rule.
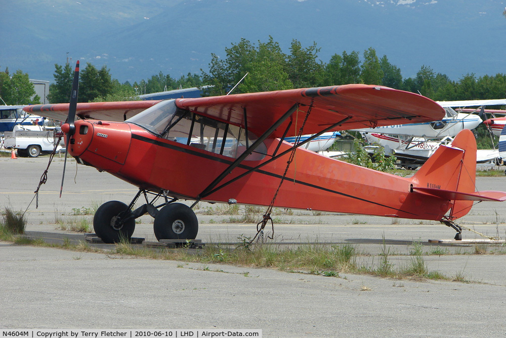
[[[146,203],[132,211],[141,194]],[[155,197],[149,201],[148,194]],[[155,206],[154,202],[161,196],[165,199],[164,203]],[[198,233],[197,216],[190,207],[175,201],[176,198],[168,200],[163,192],[155,194],[140,189],[128,206],[119,201],[101,205],[93,218],[93,228],[105,243],[116,243],[121,239],[130,241],[135,230],[135,219],[148,213],[154,218],[153,231],[157,240],[195,239]]]

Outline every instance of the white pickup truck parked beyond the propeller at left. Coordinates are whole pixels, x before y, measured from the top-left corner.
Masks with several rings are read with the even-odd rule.
[[[58,138],[54,137],[53,129],[45,126],[14,126],[12,132],[5,132],[4,147],[17,149],[19,157],[37,157],[43,153],[51,153]],[[59,151],[62,146],[56,148]]]

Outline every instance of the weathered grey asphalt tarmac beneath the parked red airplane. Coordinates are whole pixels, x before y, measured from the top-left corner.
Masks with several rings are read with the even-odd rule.
[[[107,173],[67,163],[58,198],[63,159],[55,159],[41,187],[38,208],[28,207],[47,157],[0,158],[4,180],[0,206],[24,211],[27,232],[50,240],[83,235],[57,229],[57,219],[109,200],[128,203],[135,187]],[[77,170],[77,172],[76,172]],[[74,183],[74,176],[75,182]],[[479,190],[506,191],[506,177],[478,178]],[[490,236],[506,237],[504,203],[479,203],[461,223]],[[254,224],[230,224],[230,215],[197,209],[198,239],[236,242],[256,234]],[[212,213],[207,215],[207,213]],[[352,243],[373,265],[383,240],[392,264],[402,266],[420,241],[429,270],[456,281],[395,280],[368,275],[324,277],[272,269],[73,252],[0,242],[0,329],[3,328],[256,328],[265,337],[497,337],[506,335],[506,247],[431,244],[454,231],[437,222],[392,220],[307,211],[278,211],[277,243]],[[153,239],[152,218],[143,216],[136,237]],[[471,232],[464,239],[479,238]],[[286,245],[286,244],[283,244]],[[494,252],[495,254],[490,254]],[[455,254],[448,254],[455,253]],[[374,258],[375,257],[375,258]]]

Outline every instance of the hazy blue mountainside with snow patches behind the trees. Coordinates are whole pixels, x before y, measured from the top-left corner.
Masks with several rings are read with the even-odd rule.
[[[206,69],[210,54],[272,35],[288,53],[292,39],[314,42],[319,57],[363,51],[388,56],[412,77],[422,65],[458,80],[506,72],[506,18],[498,0],[2,0],[0,67],[53,81],[66,53],[121,82],[162,71],[179,77]]]

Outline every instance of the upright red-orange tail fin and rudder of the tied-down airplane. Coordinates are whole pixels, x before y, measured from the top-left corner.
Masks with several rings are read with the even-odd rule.
[[[450,219],[465,216],[473,206],[469,196],[474,195],[476,187],[476,139],[473,133],[464,129],[455,136],[451,146],[441,145],[412,177],[412,182],[414,190],[418,187],[419,191],[431,195],[443,197],[455,193]]]

